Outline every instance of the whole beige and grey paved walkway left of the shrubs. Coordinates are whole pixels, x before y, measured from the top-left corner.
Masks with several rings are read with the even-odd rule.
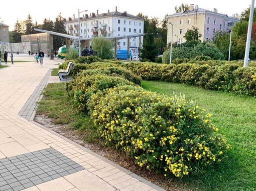
[[[61,61],[15,55],[0,69],[0,191],[164,190],[33,121],[45,85],[61,82],[51,76]]]

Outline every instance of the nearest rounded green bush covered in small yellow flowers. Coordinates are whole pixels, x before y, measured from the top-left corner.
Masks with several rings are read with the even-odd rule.
[[[210,114],[184,96],[167,97],[139,86],[97,91],[88,101],[91,118],[106,144],[165,175],[183,177],[222,160],[227,149]]]

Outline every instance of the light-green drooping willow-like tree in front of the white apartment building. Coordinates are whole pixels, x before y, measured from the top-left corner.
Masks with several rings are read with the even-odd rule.
[[[110,59],[113,57],[113,41],[105,37],[99,36],[91,40],[94,51],[98,51],[97,56],[102,59]]]

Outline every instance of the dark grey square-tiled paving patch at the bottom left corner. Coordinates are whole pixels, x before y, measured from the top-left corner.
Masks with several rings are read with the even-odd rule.
[[[0,191],[18,191],[85,169],[54,148],[0,159]]]

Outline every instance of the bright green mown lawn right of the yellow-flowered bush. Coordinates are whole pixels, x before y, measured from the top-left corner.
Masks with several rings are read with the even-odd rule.
[[[185,178],[200,190],[256,189],[256,97],[211,91],[162,81],[143,81],[142,86],[160,94],[185,94],[212,114],[213,124],[232,145],[227,162],[207,176]],[[193,186],[194,185],[194,186]]]

